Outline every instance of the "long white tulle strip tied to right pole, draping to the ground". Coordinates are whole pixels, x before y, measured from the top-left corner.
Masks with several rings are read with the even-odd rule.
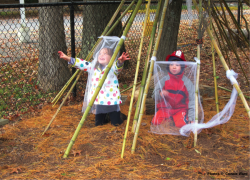
[[[237,83],[236,81],[237,76],[238,76],[237,73],[235,73],[233,70],[227,71],[227,78],[231,81],[232,84]],[[180,129],[180,134],[183,136],[189,136],[191,132],[195,133],[197,131],[199,133],[202,129],[212,128],[219,124],[226,123],[234,113],[237,97],[238,97],[238,93],[236,89],[233,88],[230,100],[228,101],[228,103],[226,104],[226,106],[221,112],[216,114],[207,123],[198,123],[198,124],[194,123],[194,124],[187,124],[183,126]]]

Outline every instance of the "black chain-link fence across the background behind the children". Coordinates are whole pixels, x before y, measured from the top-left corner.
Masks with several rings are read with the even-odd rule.
[[[57,51],[85,58],[118,5],[118,2],[0,5],[0,118],[11,119],[50,102],[72,73],[67,63],[59,59]],[[128,2],[122,11],[127,6]],[[134,80],[145,8],[143,4],[125,41],[131,61],[129,68],[119,76],[121,89],[127,88]],[[152,3],[149,30],[156,8],[157,4]],[[122,26],[130,14],[129,11],[122,18],[113,35],[121,36]],[[192,18],[198,19],[196,11]],[[192,59],[196,56],[197,29],[192,28],[189,21],[186,5],[183,5],[178,49]],[[146,59],[149,35],[146,32],[142,60]],[[207,39],[205,36],[204,43]],[[203,58],[211,58],[209,51],[204,48]],[[141,67],[138,81],[142,77],[143,62]],[[77,83],[76,95],[80,99],[84,96],[86,76],[82,75]]]

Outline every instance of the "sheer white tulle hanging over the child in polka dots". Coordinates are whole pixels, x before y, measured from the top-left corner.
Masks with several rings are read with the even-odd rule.
[[[101,36],[99,38],[102,38],[102,41],[100,44],[96,47],[94,54],[93,54],[93,60],[90,63],[90,67],[88,68],[88,81],[86,85],[85,95],[84,95],[84,101],[83,101],[83,107],[82,111],[84,112],[93,96],[93,93],[95,92],[102,75],[106,69],[106,67],[100,67],[98,68],[98,55],[99,52],[103,48],[109,48],[112,50],[112,55],[120,41],[119,37],[116,36]],[[91,108],[91,113],[93,114],[99,114],[99,113],[108,113],[112,111],[120,111],[119,104],[120,101],[120,92],[119,92],[119,84],[117,79],[117,74],[119,73],[116,68],[117,58],[119,54],[117,55],[109,73],[104,81],[104,84],[99,92],[99,94],[96,97],[96,100]],[[119,70],[120,71],[120,70]],[[114,84],[115,82],[115,84]],[[97,105],[103,105],[98,106],[98,110],[96,109]],[[101,108],[100,108],[101,107]],[[112,108],[110,108],[112,107]]]

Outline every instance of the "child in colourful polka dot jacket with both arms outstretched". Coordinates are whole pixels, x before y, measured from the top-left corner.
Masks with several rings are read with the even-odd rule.
[[[86,88],[84,101],[85,103],[89,103],[112,57],[113,50],[108,47],[100,48],[97,53],[97,61],[94,62],[95,64],[92,64],[94,60],[88,62],[83,59],[69,57],[62,51],[58,51],[58,53],[60,58],[68,61],[73,67],[88,72],[89,77],[87,87],[89,88]],[[111,67],[108,76],[96,97],[92,107],[92,113],[95,114],[96,126],[107,123],[105,122],[106,114],[109,114],[112,125],[117,126],[122,124],[119,107],[119,104],[121,104],[121,95],[117,75],[121,72],[124,61],[129,59],[127,53],[122,53]],[[86,104],[84,106],[86,107]],[[84,106],[83,111],[85,110]]]

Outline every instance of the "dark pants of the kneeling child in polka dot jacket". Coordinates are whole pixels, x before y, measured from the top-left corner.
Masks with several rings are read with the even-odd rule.
[[[112,125],[118,126],[118,125],[122,124],[122,120],[120,117],[120,111],[113,111],[110,113],[96,114],[95,115],[95,125],[99,126],[99,125],[107,124],[108,123],[108,121],[106,119],[107,114],[110,117],[110,121],[111,121]]]

